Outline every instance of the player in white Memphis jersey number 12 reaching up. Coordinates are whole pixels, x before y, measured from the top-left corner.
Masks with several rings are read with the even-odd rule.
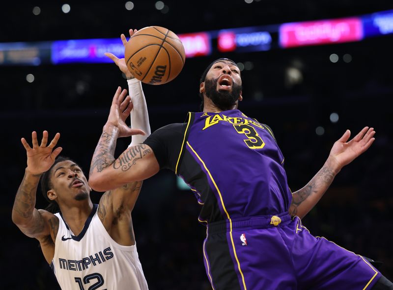
[[[127,78],[132,99],[139,104],[139,111],[132,113],[132,123],[148,135],[150,125],[140,81],[129,72]],[[125,120],[133,108],[130,97],[120,108],[120,118]],[[131,145],[143,142],[146,135],[134,136]],[[13,222],[40,242],[61,289],[147,290],[131,218],[142,182],[108,191],[99,205],[93,204],[81,167],[69,158],[56,158],[62,150],[54,149],[58,140],[59,133],[47,146],[48,132],[44,131],[39,145],[33,132],[30,147],[22,138],[28,165],[16,194]],[[50,202],[47,210],[34,208],[40,178],[42,193]]]

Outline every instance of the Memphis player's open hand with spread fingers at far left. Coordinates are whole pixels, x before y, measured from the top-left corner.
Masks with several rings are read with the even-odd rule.
[[[23,146],[26,149],[26,153],[28,156],[28,167],[27,169],[32,174],[42,174],[45,171],[48,171],[51,166],[55,163],[55,159],[57,155],[61,152],[63,148],[57,147],[55,148],[58,139],[60,138],[60,133],[56,133],[55,137],[51,141],[51,143],[47,146],[48,143],[48,131],[44,131],[42,133],[41,145],[38,145],[37,140],[37,132],[33,131],[31,133],[32,145],[28,145],[28,142],[25,138],[21,139]]]

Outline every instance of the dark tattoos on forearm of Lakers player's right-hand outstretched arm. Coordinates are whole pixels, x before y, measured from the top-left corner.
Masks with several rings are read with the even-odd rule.
[[[327,167],[323,167],[319,170],[303,189],[292,194],[292,203],[289,206],[289,215],[292,217],[296,216],[298,207],[303,203],[303,201],[309,198],[312,193],[318,193],[319,191],[321,191],[321,194],[325,193],[328,187],[332,184],[334,177],[334,172]]]

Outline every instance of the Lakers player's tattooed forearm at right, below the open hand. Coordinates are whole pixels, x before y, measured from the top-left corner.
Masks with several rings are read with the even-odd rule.
[[[335,173],[332,169],[327,166],[320,169],[304,188],[292,194],[289,214],[305,216],[326,192],[334,178]],[[306,200],[307,205],[304,203]]]

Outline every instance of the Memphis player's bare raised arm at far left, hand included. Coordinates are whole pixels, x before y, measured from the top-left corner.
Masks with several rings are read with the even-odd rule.
[[[40,176],[52,166],[62,148],[58,147],[53,150],[60,137],[59,133],[56,134],[48,146],[46,146],[48,142],[47,131],[43,132],[41,145],[38,145],[35,131],[32,132],[31,136],[32,148],[25,138],[21,139],[27,152],[28,161],[25,176],[15,196],[12,221],[28,237],[41,239],[43,236],[50,235],[51,226],[56,227],[54,219],[57,219],[57,217],[47,211],[35,209],[35,194]]]

